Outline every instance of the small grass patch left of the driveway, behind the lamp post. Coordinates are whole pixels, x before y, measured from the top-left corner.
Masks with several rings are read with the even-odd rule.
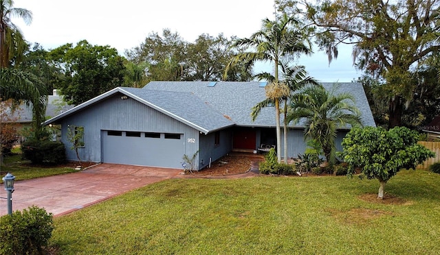
[[[3,177],[6,173],[12,173],[15,180],[28,180],[32,178],[39,178],[50,175],[58,175],[63,173],[72,173],[76,170],[72,167],[43,167],[34,166],[28,160],[22,160],[21,154],[12,154],[12,156],[5,156],[3,165],[0,166],[0,176]],[[0,178],[0,183],[3,180]]]

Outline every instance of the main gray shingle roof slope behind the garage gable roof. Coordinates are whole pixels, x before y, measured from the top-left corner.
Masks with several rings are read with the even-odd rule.
[[[265,99],[265,88],[261,86],[261,83],[217,82],[214,86],[212,84],[212,82],[150,82],[143,89],[193,93],[222,114],[229,116],[236,125],[275,126],[273,107],[263,108],[255,121],[252,121],[250,117],[251,109]],[[355,104],[362,113],[362,123],[375,126],[362,84],[350,82],[338,85],[339,89],[336,93],[347,92],[355,98]],[[322,83],[322,86],[330,90],[333,83]],[[303,127],[303,123],[298,123],[296,127]]]

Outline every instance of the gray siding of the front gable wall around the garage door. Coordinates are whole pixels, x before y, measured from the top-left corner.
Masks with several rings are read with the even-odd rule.
[[[104,131],[114,130],[122,132],[157,132],[164,136],[164,133],[181,134],[181,143],[184,154],[192,155],[199,147],[198,141],[195,143],[188,143],[188,137],[198,137],[199,132],[188,125],[172,119],[157,110],[141,104],[134,99],[121,99],[122,94],[113,95],[107,99],[100,101],[100,104],[95,104],[93,107],[86,108],[76,112],[76,114],[69,115],[63,119],[62,127],[62,141],[66,147],[72,146],[67,141],[67,127],[68,125],[83,126],[85,129],[84,142],[85,147],[80,148],[80,158],[91,162],[102,162],[102,135]],[[142,148],[130,148],[133,151]],[[157,146],[164,146],[161,144]],[[115,150],[124,149],[122,147],[115,148]],[[162,148],[159,148],[162,149]],[[172,153],[173,150],[168,150]],[[173,167],[181,168],[180,162],[183,154],[168,155],[169,158],[178,158],[179,165],[156,165],[157,167]],[[76,154],[72,149],[67,149],[67,159],[77,160]],[[175,160],[176,161],[176,160]],[[198,161],[198,160],[197,160]],[[155,166],[155,165],[151,165]]]

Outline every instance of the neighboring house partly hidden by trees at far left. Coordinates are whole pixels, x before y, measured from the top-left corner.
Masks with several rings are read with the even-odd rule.
[[[3,123],[15,123],[17,124],[17,130],[20,131],[25,127],[32,127],[32,107],[21,105],[18,106],[13,112],[10,107],[5,106],[5,118],[1,120]],[[46,107],[46,119],[55,117],[67,110],[74,108],[72,105],[68,105],[63,101],[63,96],[58,95],[56,90],[53,91],[53,95],[47,96]]]

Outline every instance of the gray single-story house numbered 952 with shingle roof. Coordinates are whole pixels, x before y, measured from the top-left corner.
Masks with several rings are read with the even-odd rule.
[[[84,127],[81,160],[182,168],[182,157],[198,151],[195,162],[202,169],[230,151],[255,153],[261,144],[276,144],[274,107],[264,108],[254,122],[250,117],[251,108],[265,99],[265,84],[150,82],[144,88],[118,87],[45,125],[61,125],[67,148],[67,128]],[[375,126],[362,84],[343,83],[340,90],[355,97],[363,124]],[[339,149],[348,131],[344,127],[338,132]],[[304,153],[303,132],[301,123],[289,127],[289,157]],[[67,158],[76,160],[74,151],[67,149]]]

